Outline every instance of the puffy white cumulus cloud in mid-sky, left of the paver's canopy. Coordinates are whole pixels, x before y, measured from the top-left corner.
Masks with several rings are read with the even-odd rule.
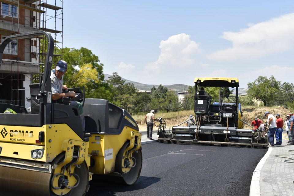
[[[164,67],[177,66],[181,68],[192,65],[195,63],[195,56],[201,52],[199,43],[190,40],[190,36],[185,33],[170,36],[168,40],[162,40],[159,48],[161,51],[158,60],[148,63],[145,72],[159,71]]]

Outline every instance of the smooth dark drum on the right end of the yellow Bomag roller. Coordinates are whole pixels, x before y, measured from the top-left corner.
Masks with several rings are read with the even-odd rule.
[[[119,153],[117,154],[115,158],[115,172],[120,173],[123,176],[123,182],[127,185],[134,184],[141,173],[142,169],[142,150],[141,148],[137,150],[137,152],[133,153],[133,157],[136,159],[136,166],[134,168],[131,168],[129,172],[124,173],[122,171],[122,160],[123,160],[123,154],[126,150],[126,148],[130,145],[130,141],[127,141],[123,147],[119,150]]]

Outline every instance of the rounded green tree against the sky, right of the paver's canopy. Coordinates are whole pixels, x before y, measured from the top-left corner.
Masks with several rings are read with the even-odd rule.
[[[265,106],[273,104],[280,92],[281,81],[273,76],[267,78],[259,76],[254,82],[248,83],[247,94],[255,99],[261,100]]]

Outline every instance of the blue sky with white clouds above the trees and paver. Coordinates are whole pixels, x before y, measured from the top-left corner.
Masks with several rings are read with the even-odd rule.
[[[87,3],[81,3],[87,2]],[[294,1],[64,1],[63,46],[145,84],[259,75],[294,83]]]

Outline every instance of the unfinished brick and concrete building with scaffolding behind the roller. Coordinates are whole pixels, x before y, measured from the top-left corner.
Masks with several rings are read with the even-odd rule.
[[[62,58],[63,0],[0,0],[0,36],[43,30],[55,38],[56,60]],[[46,42],[42,37],[14,40],[4,51],[0,69],[0,102],[30,107],[29,85],[40,77]]]

